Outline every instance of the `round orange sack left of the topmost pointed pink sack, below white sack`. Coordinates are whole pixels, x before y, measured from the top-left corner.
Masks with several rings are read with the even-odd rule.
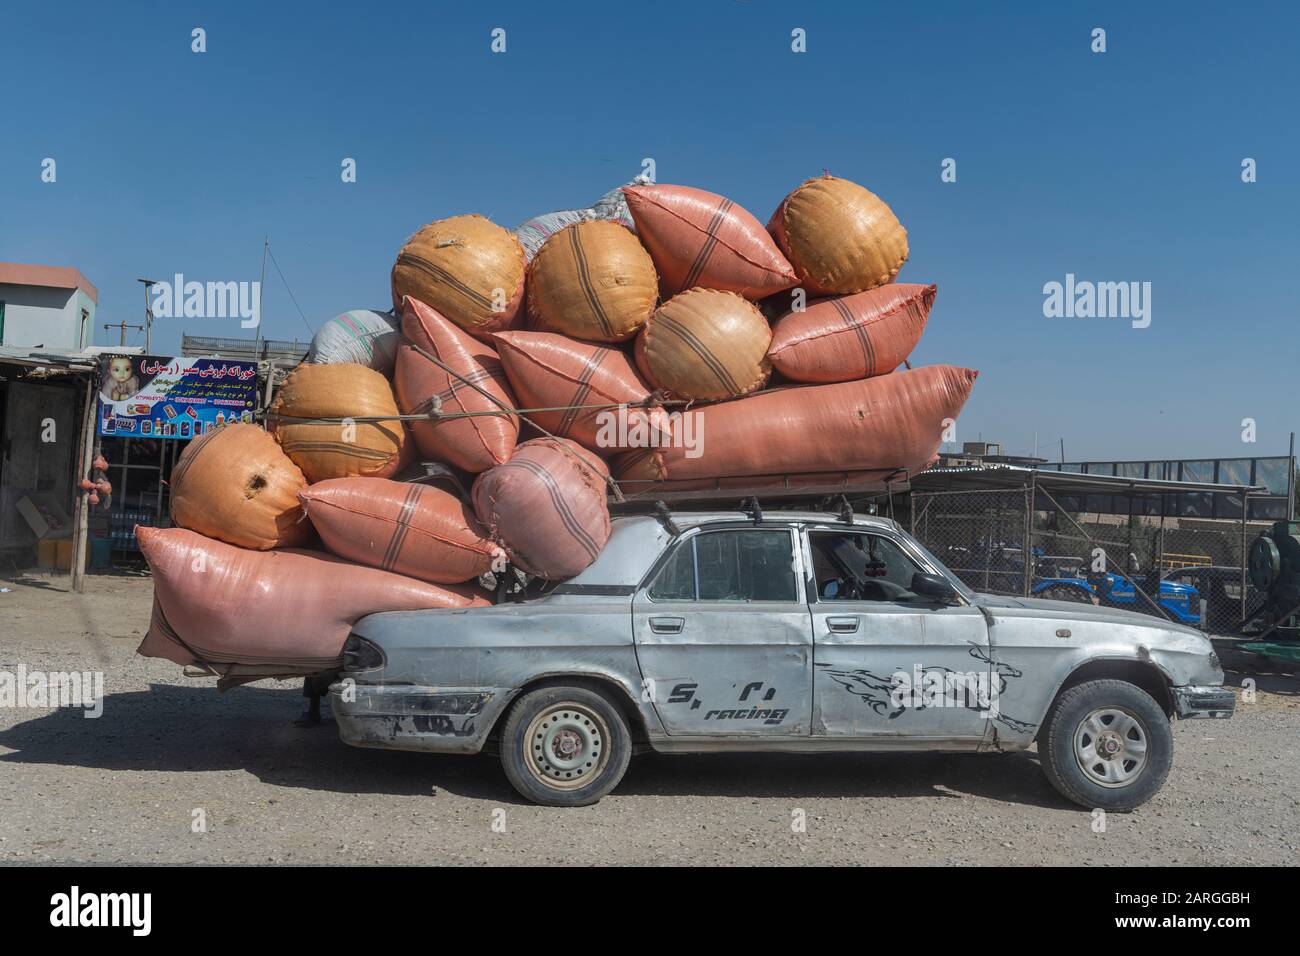
[[[659,280],[637,237],[608,220],[549,238],[528,267],[528,313],[541,332],[623,342],[654,311]]]

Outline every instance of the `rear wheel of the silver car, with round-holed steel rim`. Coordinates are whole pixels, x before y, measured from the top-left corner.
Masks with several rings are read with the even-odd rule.
[[[542,687],[510,709],[500,763],[520,796],[543,806],[588,806],[619,786],[632,734],[619,708],[585,687]]]

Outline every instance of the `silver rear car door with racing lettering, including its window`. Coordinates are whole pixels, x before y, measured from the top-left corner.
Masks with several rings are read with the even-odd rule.
[[[632,601],[646,692],[672,736],[807,735],[812,622],[796,528],[706,527]]]

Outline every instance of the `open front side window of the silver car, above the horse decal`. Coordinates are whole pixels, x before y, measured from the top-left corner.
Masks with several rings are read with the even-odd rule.
[[[818,601],[916,601],[911,579],[922,568],[881,535],[809,532]]]

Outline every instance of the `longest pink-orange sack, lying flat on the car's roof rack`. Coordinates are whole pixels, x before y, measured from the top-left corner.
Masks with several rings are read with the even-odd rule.
[[[840,471],[920,471],[978,373],[926,365],[835,385],[772,389],[693,411],[698,454],[629,451],[618,479],[664,481]]]

